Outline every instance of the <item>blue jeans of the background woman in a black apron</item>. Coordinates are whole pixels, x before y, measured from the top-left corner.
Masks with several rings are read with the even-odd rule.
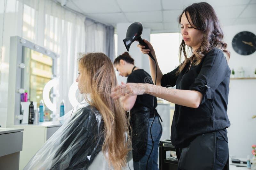
[[[148,159],[148,155],[152,149],[152,140],[150,136],[150,125],[153,121],[153,117],[149,118],[149,127],[148,127],[148,146],[147,151],[145,155],[139,160],[139,161],[133,161],[133,168],[134,170],[146,170],[147,167],[147,160],[148,160],[148,170],[157,170],[157,158],[158,158],[158,146],[159,146],[159,140],[162,136],[162,125],[159,121],[158,117],[155,117],[155,120],[152,124],[151,132],[152,132],[152,138],[154,141],[154,147],[153,151]]]

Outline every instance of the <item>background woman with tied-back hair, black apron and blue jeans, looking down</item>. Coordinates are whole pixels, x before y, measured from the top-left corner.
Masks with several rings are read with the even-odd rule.
[[[150,83],[153,84],[151,76],[134,66],[134,60],[128,52],[119,55],[114,61],[114,67],[120,76],[127,77],[127,83]],[[132,126],[132,158],[133,167],[137,170],[146,169],[147,159],[152,149],[150,136],[150,125],[153,121],[154,111],[156,114],[152,124],[151,132],[154,141],[153,151],[148,160],[148,170],[158,169],[158,143],[162,135],[162,125],[156,111],[156,97],[144,94],[134,95],[123,100],[124,109],[130,110],[130,123]]]

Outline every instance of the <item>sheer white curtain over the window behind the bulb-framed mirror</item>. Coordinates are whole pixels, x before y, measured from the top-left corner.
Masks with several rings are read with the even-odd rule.
[[[10,37],[20,36],[59,54],[59,99],[65,100],[67,112],[72,108],[68,89],[76,80],[77,54],[85,52],[84,20],[52,0],[0,0],[0,125],[7,116]]]

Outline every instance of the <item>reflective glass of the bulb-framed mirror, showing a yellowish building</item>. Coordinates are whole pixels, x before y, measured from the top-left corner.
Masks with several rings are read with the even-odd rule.
[[[44,86],[52,79],[52,58],[23,46],[22,61],[26,67],[22,69],[21,87],[27,90],[28,101],[36,102],[36,108],[39,108],[39,103],[43,99]],[[52,101],[51,93],[52,90],[49,93]],[[44,121],[51,121],[51,114],[52,111],[45,106]]]

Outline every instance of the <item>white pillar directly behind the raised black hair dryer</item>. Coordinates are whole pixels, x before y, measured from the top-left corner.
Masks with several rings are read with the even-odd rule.
[[[116,25],[116,32],[117,32],[117,56],[124,53],[126,50],[124,46],[123,39],[126,37],[126,31],[127,28],[131,25],[132,23],[119,23]],[[142,24],[143,25],[143,24]],[[141,35],[142,39],[150,39],[150,29],[148,28],[143,28],[143,32]],[[129,49],[129,54],[132,56],[134,59],[134,64],[135,66],[144,69],[148,74],[150,74],[150,67],[149,67],[149,60],[148,60],[148,55],[145,55],[140,52],[140,49],[137,47],[139,43],[137,41],[134,41],[132,45],[130,46]],[[121,81],[126,82],[126,77],[121,77],[117,75],[117,80],[118,83],[121,83]]]

